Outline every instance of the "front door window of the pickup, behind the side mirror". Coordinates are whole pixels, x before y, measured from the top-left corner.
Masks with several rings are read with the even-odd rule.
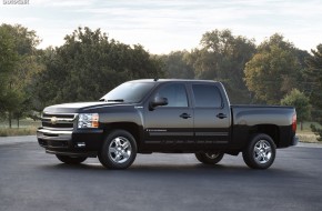
[[[155,96],[168,99],[165,107],[188,107],[184,84],[168,84],[158,90]]]

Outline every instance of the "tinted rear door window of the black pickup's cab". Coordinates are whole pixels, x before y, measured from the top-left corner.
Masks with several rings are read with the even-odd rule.
[[[195,107],[201,108],[221,108],[222,98],[219,89],[210,84],[193,84],[192,86]]]

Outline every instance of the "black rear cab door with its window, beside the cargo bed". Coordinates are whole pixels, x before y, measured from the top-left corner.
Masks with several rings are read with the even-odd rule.
[[[230,141],[230,105],[215,83],[192,83],[195,142],[225,144]]]

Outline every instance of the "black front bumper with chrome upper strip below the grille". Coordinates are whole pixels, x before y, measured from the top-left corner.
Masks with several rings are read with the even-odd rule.
[[[50,130],[37,131],[38,143],[48,153],[63,155],[97,157],[103,141],[102,129],[82,129],[74,131]]]

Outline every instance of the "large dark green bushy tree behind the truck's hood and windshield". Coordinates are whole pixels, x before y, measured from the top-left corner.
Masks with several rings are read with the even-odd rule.
[[[97,101],[133,79],[162,77],[161,61],[142,46],[110,40],[100,29],[78,28],[59,48],[42,51],[44,70],[34,80],[39,109],[61,102]]]

